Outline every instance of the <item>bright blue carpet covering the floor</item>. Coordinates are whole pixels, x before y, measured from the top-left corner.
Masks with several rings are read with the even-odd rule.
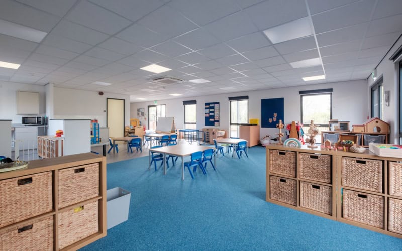
[[[265,201],[265,148],[217,158],[181,180],[148,157],[108,164],[107,187],[131,191],[128,221],[82,250],[402,250],[402,239]]]

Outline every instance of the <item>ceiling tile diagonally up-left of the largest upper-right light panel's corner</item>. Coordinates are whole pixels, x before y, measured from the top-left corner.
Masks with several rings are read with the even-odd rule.
[[[245,12],[237,12],[214,21],[204,28],[221,41],[228,41],[258,31]]]

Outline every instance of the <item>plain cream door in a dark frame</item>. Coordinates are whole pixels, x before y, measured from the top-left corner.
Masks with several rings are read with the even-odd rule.
[[[106,126],[109,127],[109,137],[123,137],[125,100],[107,98],[106,102]]]

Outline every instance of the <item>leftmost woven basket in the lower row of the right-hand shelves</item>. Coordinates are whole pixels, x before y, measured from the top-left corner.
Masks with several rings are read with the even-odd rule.
[[[273,200],[296,205],[296,181],[276,176],[269,178],[269,195]]]

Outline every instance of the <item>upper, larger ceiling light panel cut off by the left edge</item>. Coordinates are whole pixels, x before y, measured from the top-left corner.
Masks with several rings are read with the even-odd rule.
[[[12,23],[3,19],[0,19],[0,33],[7,36],[21,38],[36,43],[40,43],[43,40],[43,38],[47,35],[46,32],[32,29],[16,23]]]

